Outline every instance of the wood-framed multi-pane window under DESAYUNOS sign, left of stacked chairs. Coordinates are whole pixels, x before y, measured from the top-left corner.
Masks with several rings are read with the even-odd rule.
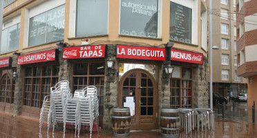
[[[23,86],[23,105],[41,108],[44,97],[58,82],[59,66],[35,66],[26,68]]]

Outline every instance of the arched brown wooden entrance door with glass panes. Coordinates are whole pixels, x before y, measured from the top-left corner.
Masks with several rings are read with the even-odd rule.
[[[158,95],[152,75],[142,69],[126,72],[120,81],[119,106],[126,97],[133,97],[135,112],[131,117],[131,129],[157,129]]]

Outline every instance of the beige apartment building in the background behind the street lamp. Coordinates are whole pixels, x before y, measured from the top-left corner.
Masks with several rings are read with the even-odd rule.
[[[247,81],[237,75],[236,1],[213,1],[213,92],[225,97],[247,92]]]

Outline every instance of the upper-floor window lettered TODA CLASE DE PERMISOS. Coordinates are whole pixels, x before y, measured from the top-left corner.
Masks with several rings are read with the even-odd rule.
[[[28,46],[64,39],[65,5],[30,18]]]

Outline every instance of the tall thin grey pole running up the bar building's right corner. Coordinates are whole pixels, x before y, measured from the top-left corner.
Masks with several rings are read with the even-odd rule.
[[[212,13],[211,13],[211,7],[212,7],[212,0],[209,0],[209,62],[210,62],[210,108],[213,110],[213,99],[212,99]]]

